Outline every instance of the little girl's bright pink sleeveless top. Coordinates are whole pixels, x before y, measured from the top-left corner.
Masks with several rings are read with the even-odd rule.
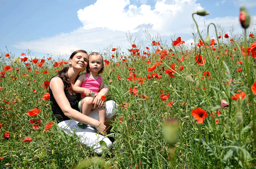
[[[100,75],[98,75],[97,79],[93,79],[88,77],[88,75],[85,73],[86,79],[82,82],[81,87],[88,88],[89,90],[92,90],[95,93],[100,92],[100,86],[102,82],[102,78]],[[81,98],[85,98],[85,94],[81,93]]]

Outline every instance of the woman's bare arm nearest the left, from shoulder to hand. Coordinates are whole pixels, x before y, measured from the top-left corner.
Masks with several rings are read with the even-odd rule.
[[[52,78],[51,82],[49,83],[49,86],[52,90],[52,94],[57,104],[59,105],[61,111],[63,111],[65,116],[72,118],[76,121],[82,122],[84,124],[95,126],[98,131],[104,132],[104,130],[106,129],[106,126],[104,124],[102,124],[100,121],[96,119],[93,119],[92,117],[83,115],[82,113],[76,111],[71,107],[67,97],[65,96],[64,84],[61,78]]]

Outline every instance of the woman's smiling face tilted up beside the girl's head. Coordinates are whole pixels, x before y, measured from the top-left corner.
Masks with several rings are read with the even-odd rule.
[[[69,58],[68,63],[69,66],[84,71],[88,65],[88,55],[84,52],[79,52],[75,54],[73,58]]]

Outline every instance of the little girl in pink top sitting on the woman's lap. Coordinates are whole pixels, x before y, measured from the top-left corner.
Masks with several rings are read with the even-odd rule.
[[[73,85],[73,91],[81,93],[81,100],[79,102],[79,108],[82,110],[82,114],[88,116],[92,109],[95,109],[93,105],[94,97],[104,87],[103,78],[98,75],[104,70],[103,57],[98,52],[92,52],[89,54],[89,64],[86,67],[86,73],[81,74]],[[104,124],[106,110],[104,107],[98,108],[98,117],[100,123]],[[101,133],[105,136],[105,132]]]

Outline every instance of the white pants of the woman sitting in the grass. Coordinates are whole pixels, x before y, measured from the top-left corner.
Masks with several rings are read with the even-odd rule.
[[[116,106],[117,104],[113,100],[105,102],[106,120],[109,120],[111,117],[114,116],[115,112],[113,111],[113,108]],[[92,110],[89,114],[89,117],[99,120],[97,109]],[[77,136],[80,137],[80,141],[84,143],[84,145],[88,147],[93,147],[94,152],[97,154],[102,154],[100,141],[104,141],[108,149],[112,148],[112,142],[109,140],[108,137],[104,138],[104,136],[98,134],[90,126],[88,126],[85,129],[79,128],[77,126],[78,123],[78,121],[71,119],[59,122],[58,126],[60,127],[60,129],[63,129],[66,133],[75,133]]]

